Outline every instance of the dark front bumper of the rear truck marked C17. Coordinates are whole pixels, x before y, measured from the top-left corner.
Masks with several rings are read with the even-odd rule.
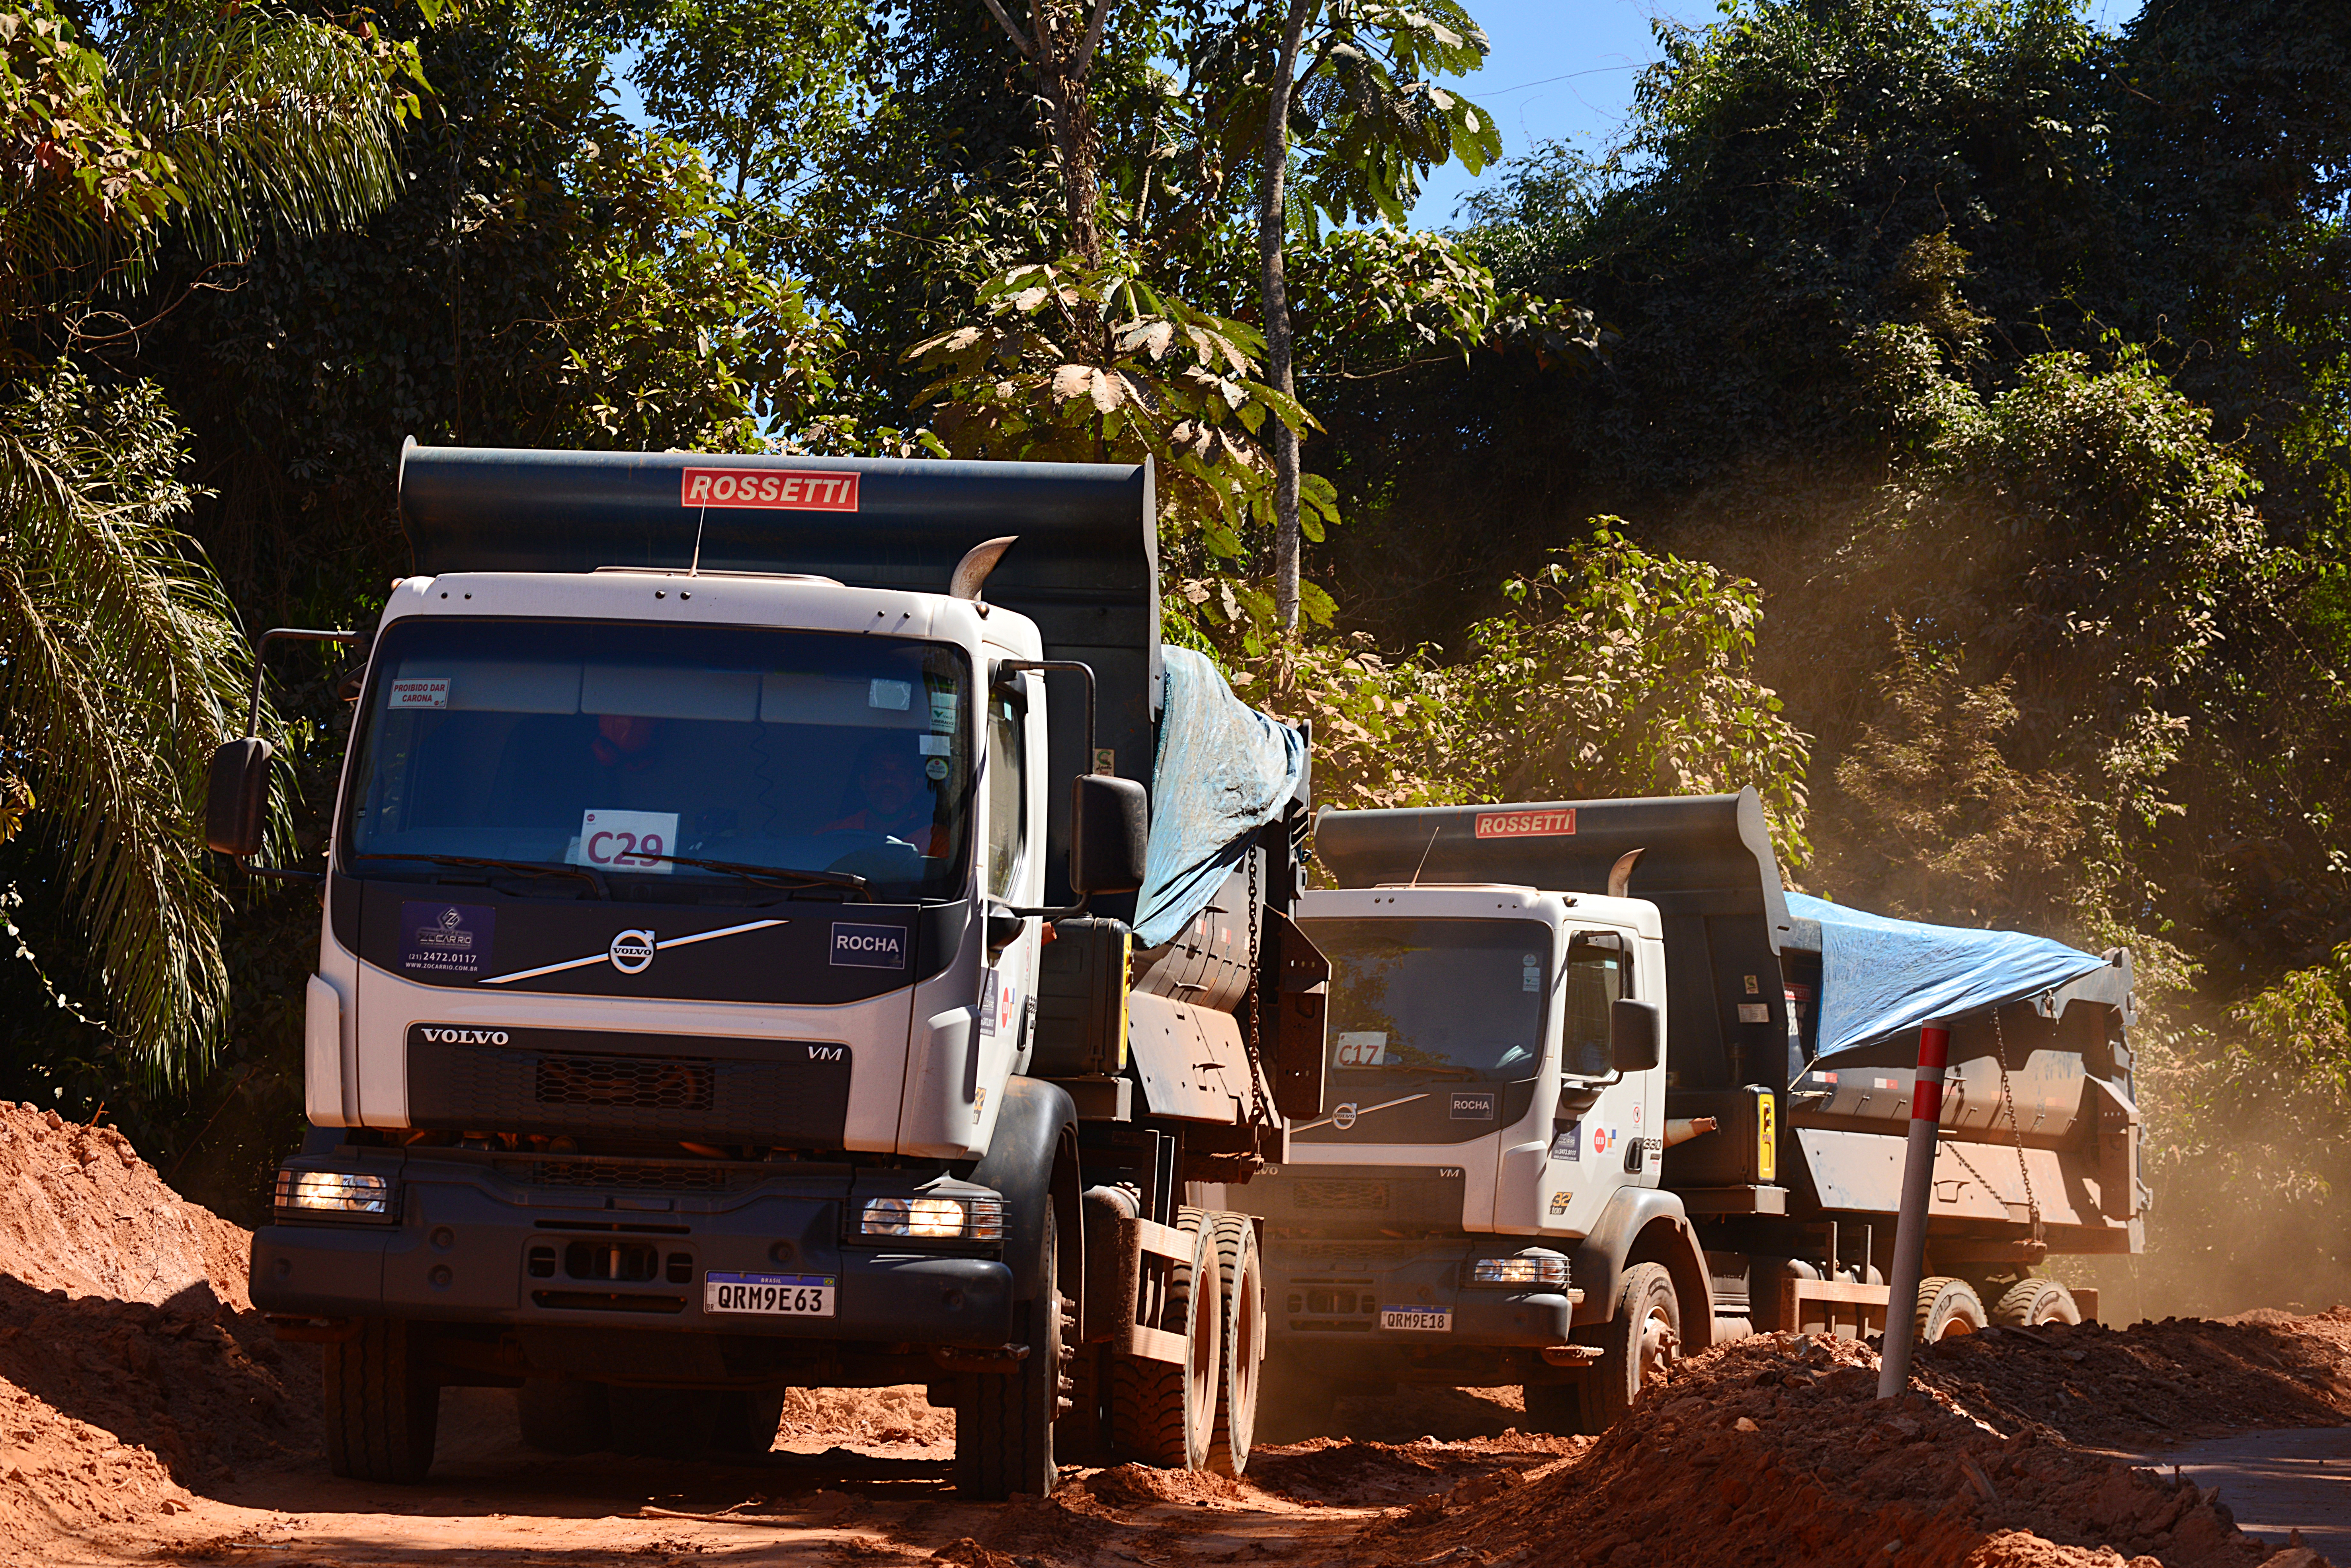
[[[1469,1260],[1493,1251],[1467,1241],[1270,1241],[1265,1251],[1272,1338],[1300,1347],[1540,1349],[1568,1340],[1580,1298],[1465,1286]]]

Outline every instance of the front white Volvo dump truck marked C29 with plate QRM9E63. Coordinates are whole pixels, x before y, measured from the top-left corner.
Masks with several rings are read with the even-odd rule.
[[[270,635],[364,651],[252,1258],[336,1474],[447,1385],[764,1453],[898,1382],[978,1497],[1237,1472],[1255,1227],[1185,1194],[1321,1110],[1307,738],[1161,649],[1150,468],[411,444],[400,512],[371,630]]]

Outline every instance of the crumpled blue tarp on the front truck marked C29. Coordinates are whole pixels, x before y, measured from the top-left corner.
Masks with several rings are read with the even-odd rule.
[[[1136,898],[1136,947],[1157,947],[1208,907],[1244,839],[1274,820],[1307,766],[1305,738],[1241,698],[1206,656],[1161,649],[1166,701],[1152,762],[1152,844]]]

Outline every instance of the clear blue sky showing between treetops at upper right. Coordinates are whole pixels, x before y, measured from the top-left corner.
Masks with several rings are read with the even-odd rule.
[[[1502,129],[1502,158],[1542,141],[1596,155],[1625,127],[1634,80],[1657,59],[1650,21],[1688,28],[1719,16],[1712,0],[1467,0],[1493,52],[1486,68],[1453,82]],[[2139,0],[2090,0],[2090,19],[2121,28]],[[1453,209],[1495,169],[1472,179],[1460,165],[1432,169],[1413,207],[1413,228],[1446,228]]]

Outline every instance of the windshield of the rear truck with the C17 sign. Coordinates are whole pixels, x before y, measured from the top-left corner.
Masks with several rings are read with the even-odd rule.
[[[1331,959],[1331,1070],[1531,1079],[1552,929],[1533,919],[1310,919]]]

